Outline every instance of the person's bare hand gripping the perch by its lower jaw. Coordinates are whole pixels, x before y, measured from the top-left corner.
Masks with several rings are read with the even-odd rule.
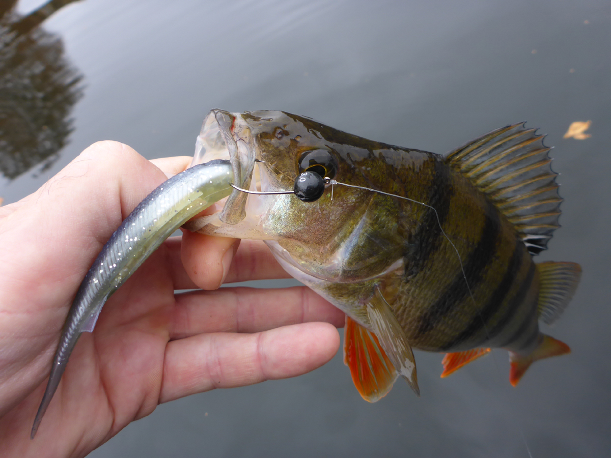
[[[288,277],[262,242],[185,231],[82,334],[30,439],[79,283],[122,219],[190,161],[147,161],[98,142],[34,194],[0,207],[0,456],[85,456],[162,402],[295,377],[337,352],[343,313],[310,289],[217,289]],[[193,288],[201,290],[174,294]]]

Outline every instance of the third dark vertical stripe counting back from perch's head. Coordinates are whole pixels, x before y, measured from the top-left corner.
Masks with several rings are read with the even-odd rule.
[[[511,260],[507,264],[507,271],[505,271],[505,275],[503,275],[503,279],[499,283],[499,286],[494,290],[486,305],[480,310],[480,312],[475,316],[474,319],[467,325],[463,332],[461,332],[458,336],[452,339],[452,341],[448,342],[444,345],[442,350],[447,350],[456,346],[464,341],[468,341],[474,338],[478,333],[481,332],[482,329],[486,330],[486,334],[488,335],[489,329],[487,329],[486,324],[488,321],[494,316],[494,314],[499,311],[499,308],[503,304],[503,300],[507,293],[509,293],[511,289],[511,285],[513,284],[516,275],[520,271],[520,267],[522,266],[522,257],[524,255],[524,242],[520,239],[516,240],[516,246],[513,249],[513,254],[511,255]],[[463,278],[464,281],[464,278]],[[511,304],[513,305],[513,304]],[[511,307],[510,307],[511,308]]]

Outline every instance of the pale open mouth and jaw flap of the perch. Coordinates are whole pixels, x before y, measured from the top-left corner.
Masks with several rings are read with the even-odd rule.
[[[212,109],[203,120],[190,167],[214,159],[229,160],[232,165],[233,184],[249,189],[255,154],[251,129],[244,118],[238,113]],[[247,197],[246,193],[233,189],[218,214],[219,220],[231,225],[243,221],[246,217]]]

